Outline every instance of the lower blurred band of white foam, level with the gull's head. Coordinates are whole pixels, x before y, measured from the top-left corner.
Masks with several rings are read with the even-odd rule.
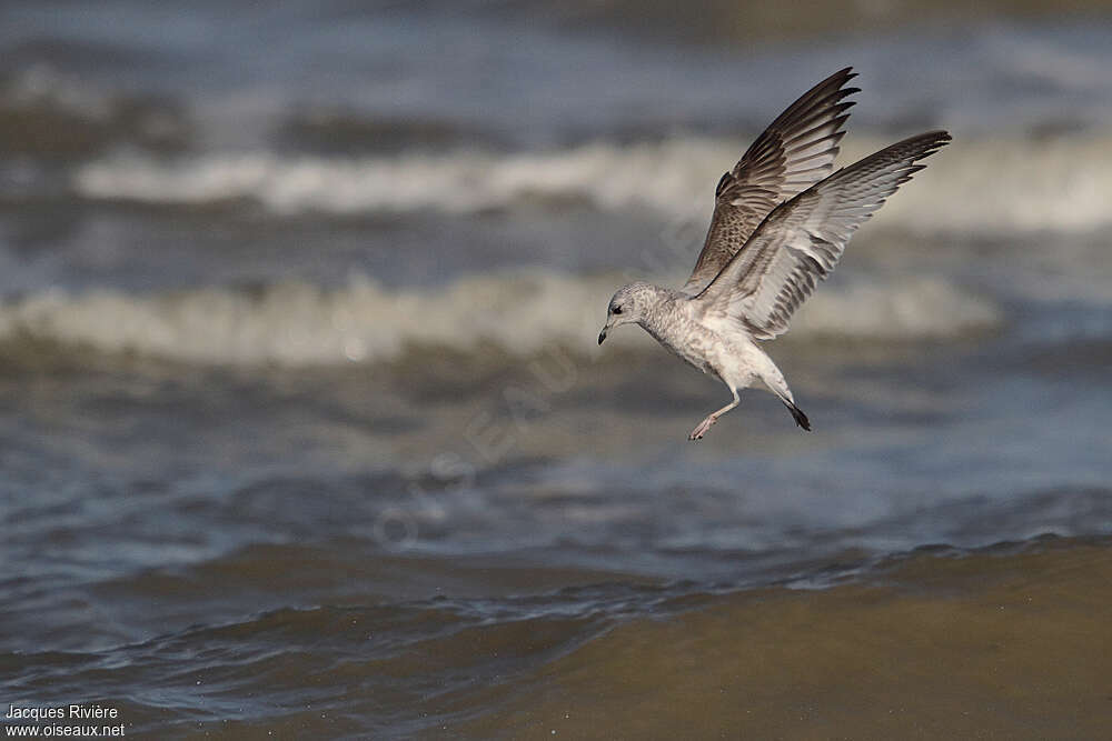
[[[398,359],[414,346],[464,352],[495,346],[527,356],[558,344],[595,352],[614,276],[544,271],[464,277],[441,288],[384,288],[368,279],[325,290],[200,288],[153,296],[57,291],[0,307],[0,338],[23,337],[186,362],[287,366]],[[793,336],[915,339],[999,321],[996,309],[936,279],[826,287]],[[616,332],[636,343],[639,332]]]

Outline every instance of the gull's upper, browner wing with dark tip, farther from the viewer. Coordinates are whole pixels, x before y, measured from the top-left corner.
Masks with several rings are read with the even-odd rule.
[[[847,67],[792,103],[746,150],[715,189],[714,216],[695,271],[683,287],[694,296],[706,288],[742,249],[761,220],[777,204],[806,190],[834,170],[842,124],[857,88]]]

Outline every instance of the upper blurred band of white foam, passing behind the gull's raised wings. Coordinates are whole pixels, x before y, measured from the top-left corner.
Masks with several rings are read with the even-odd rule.
[[[888,139],[847,140],[843,162]],[[704,219],[709,191],[741,140],[675,138],[573,149],[403,153],[351,160],[271,152],[180,161],[118,156],[77,171],[93,199],[203,204],[252,199],[278,213],[437,210],[474,212],[529,200],[580,200],[602,210],[645,208],[662,219]],[[1083,231],[1112,223],[1112,134],[955,142],[878,222],[920,232]]]

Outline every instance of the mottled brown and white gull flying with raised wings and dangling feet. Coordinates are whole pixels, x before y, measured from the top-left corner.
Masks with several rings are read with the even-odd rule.
[[[737,392],[761,382],[811,431],[784,374],[758,342],[788,330],[792,314],[834,270],[850,238],[884,201],[950,141],[929,131],[834,172],[838,142],[860,92],[845,68],[792,103],[715,189],[711,228],[691,278],[678,291],[637,281],[610,299],[598,344],[620,324],[639,324],[657,342],[719,379],[733,400],[692,430],[702,440],[737,407]]]

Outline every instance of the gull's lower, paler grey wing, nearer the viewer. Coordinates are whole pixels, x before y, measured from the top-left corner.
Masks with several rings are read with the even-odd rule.
[[[904,139],[776,207],[693,300],[742,322],[758,340],[783,334],[817,281],[834,270],[857,227],[926,167],[915,162],[949,141],[945,131]]]

